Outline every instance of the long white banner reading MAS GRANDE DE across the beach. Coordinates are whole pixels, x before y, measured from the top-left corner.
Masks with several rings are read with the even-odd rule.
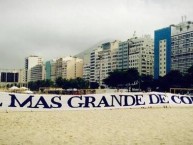
[[[46,95],[0,92],[0,111],[54,111],[193,106],[193,96],[171,93]]]

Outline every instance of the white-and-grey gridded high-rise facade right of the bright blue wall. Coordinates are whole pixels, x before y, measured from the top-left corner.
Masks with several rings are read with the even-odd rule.
[[[193,65],[193,22],[171,25],[171,69],[186,73]]]

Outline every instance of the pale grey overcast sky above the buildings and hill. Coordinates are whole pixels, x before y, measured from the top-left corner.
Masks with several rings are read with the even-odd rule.
[[[0,0],[0,69],[24,59],[75,55],[104,40],[124,41],[193,21],[192,0]]]

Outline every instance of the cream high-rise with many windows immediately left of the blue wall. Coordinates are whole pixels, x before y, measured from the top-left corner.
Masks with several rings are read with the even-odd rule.
[[[154,66],[154,45],[150,35],[128,40],[128,66],[136,68],[140,75],[152,75]],[[123,63],[124,64],[124,63]]]

